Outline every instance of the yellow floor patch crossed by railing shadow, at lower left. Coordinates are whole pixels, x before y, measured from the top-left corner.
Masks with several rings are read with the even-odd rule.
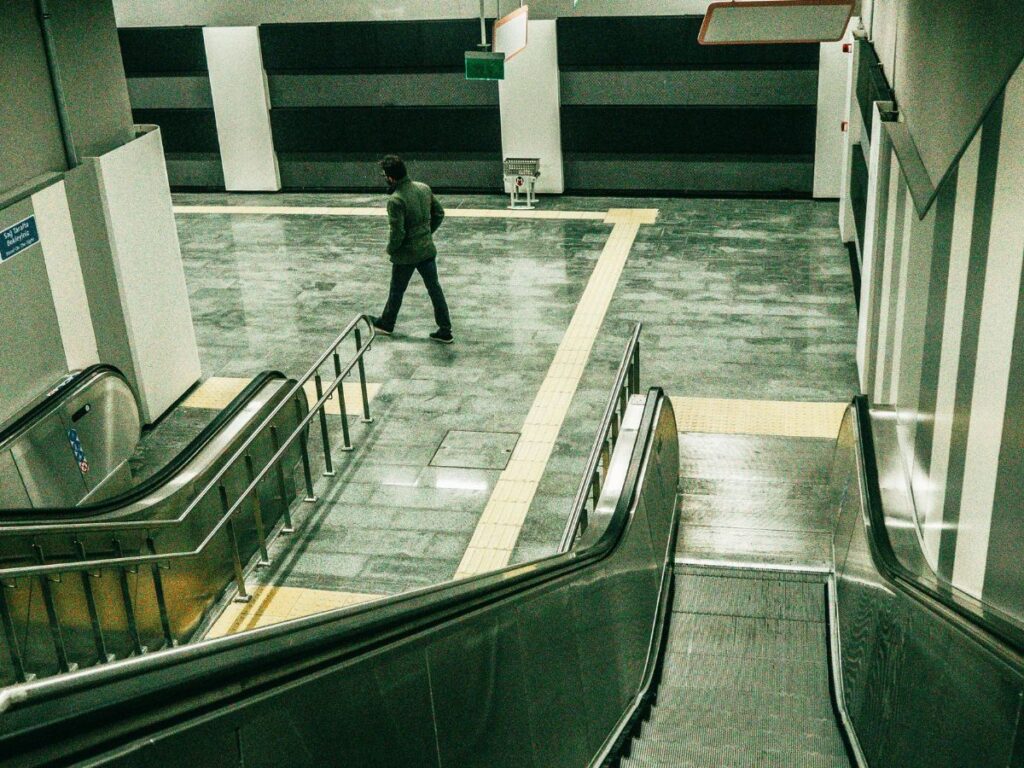
[[[290,618],[321,613],[335,608],[379,600],[385,595],[359,592],[331,592],[297,587],[256,587],[247,603],[231,603],[214,622],[207,638],[233,635],[238,632],[280,624]]]

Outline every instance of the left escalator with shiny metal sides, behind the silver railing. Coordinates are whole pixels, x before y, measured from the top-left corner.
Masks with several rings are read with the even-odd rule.
[[[140,422],[125,378],[110,366],[93,366],[65,377],[0,430],[0,498],[4,502],[0,568],[185,546],[211,524],[209,518],[219,516],[217,505],[194,510],[187,525],[131,526],[175,520],[234,450],[289,396],[295,383],[274,371],[255,377],[161,469],[136,480],[129,460],[139,444]],[[306,414],[304,398],[296,403],[272,419],[283,433],[289,433]],[[270,452],[265,439],[253,447],[257,457]],[[297,459],[295,451],[292,468]],[[267,526],[278,523],[295,498],[292,474],[286,473],[283,493],[267,488],[263,494],[261,511]],[[240,556],[248,560],[257,546],[254,524],[240,519],[238,528]],[[164,624],[175,639],[187,638],[231,578],[229,568],[206,563],[187,575],[190,586],[185,592],[168,574],[161,586],[170,594],[190,595],[187,601],[172,597],[160,608],[152,599],[134,599],[123,615],[124,593],[137,596],[144,573],[93,580],[88,589],[83,583],[81,597],[88,612],[104,627],[101,641],[96,622],[84,615],[87,611],[82,606],[73,604],[76,601],[67,586],[40,582],[19,589],[16,582],[7,583],[0,602],[10,615],[8,634],[25,650],[17,662],[20,669],[0,664],[0,684],[163,647],[170,643]],[[49,620],[61,610],[71,615],[61,623],[59,644],[54,646]]]

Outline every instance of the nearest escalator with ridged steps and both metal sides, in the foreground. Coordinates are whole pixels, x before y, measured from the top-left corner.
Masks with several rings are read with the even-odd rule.
[[[835,574],[675,565],[652,389],[566,551],[0,691],[0,765],[1021,765],[1019,649],[880,554],[870,428],[857,401]]]

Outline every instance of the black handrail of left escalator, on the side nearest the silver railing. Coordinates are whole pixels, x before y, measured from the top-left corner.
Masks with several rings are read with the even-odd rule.
[[[161,469],[150,477],[145,478],[138,485],[135,485],[123,494],[104,499],[94,504],[82,504],[77,507],[25,507],[19,509],[0,509],[0,521],[4,525],[29,525],[41,523],[49,518],[52,521],[68,521],[81,517],[91,517],[113,512],[121,507],[134,504],[169,482],[177,475],[199,453],[217,436],[236,416],[238,416],[250,400],[271,380],[286,379],[285,374],[280,371],[264,371],[256,376],[237,394],[227,406],[220,411],[203,430],[196,435],[188,444],[177,455],[165,464]],[[18,519],[22,518],[22,519]]]

